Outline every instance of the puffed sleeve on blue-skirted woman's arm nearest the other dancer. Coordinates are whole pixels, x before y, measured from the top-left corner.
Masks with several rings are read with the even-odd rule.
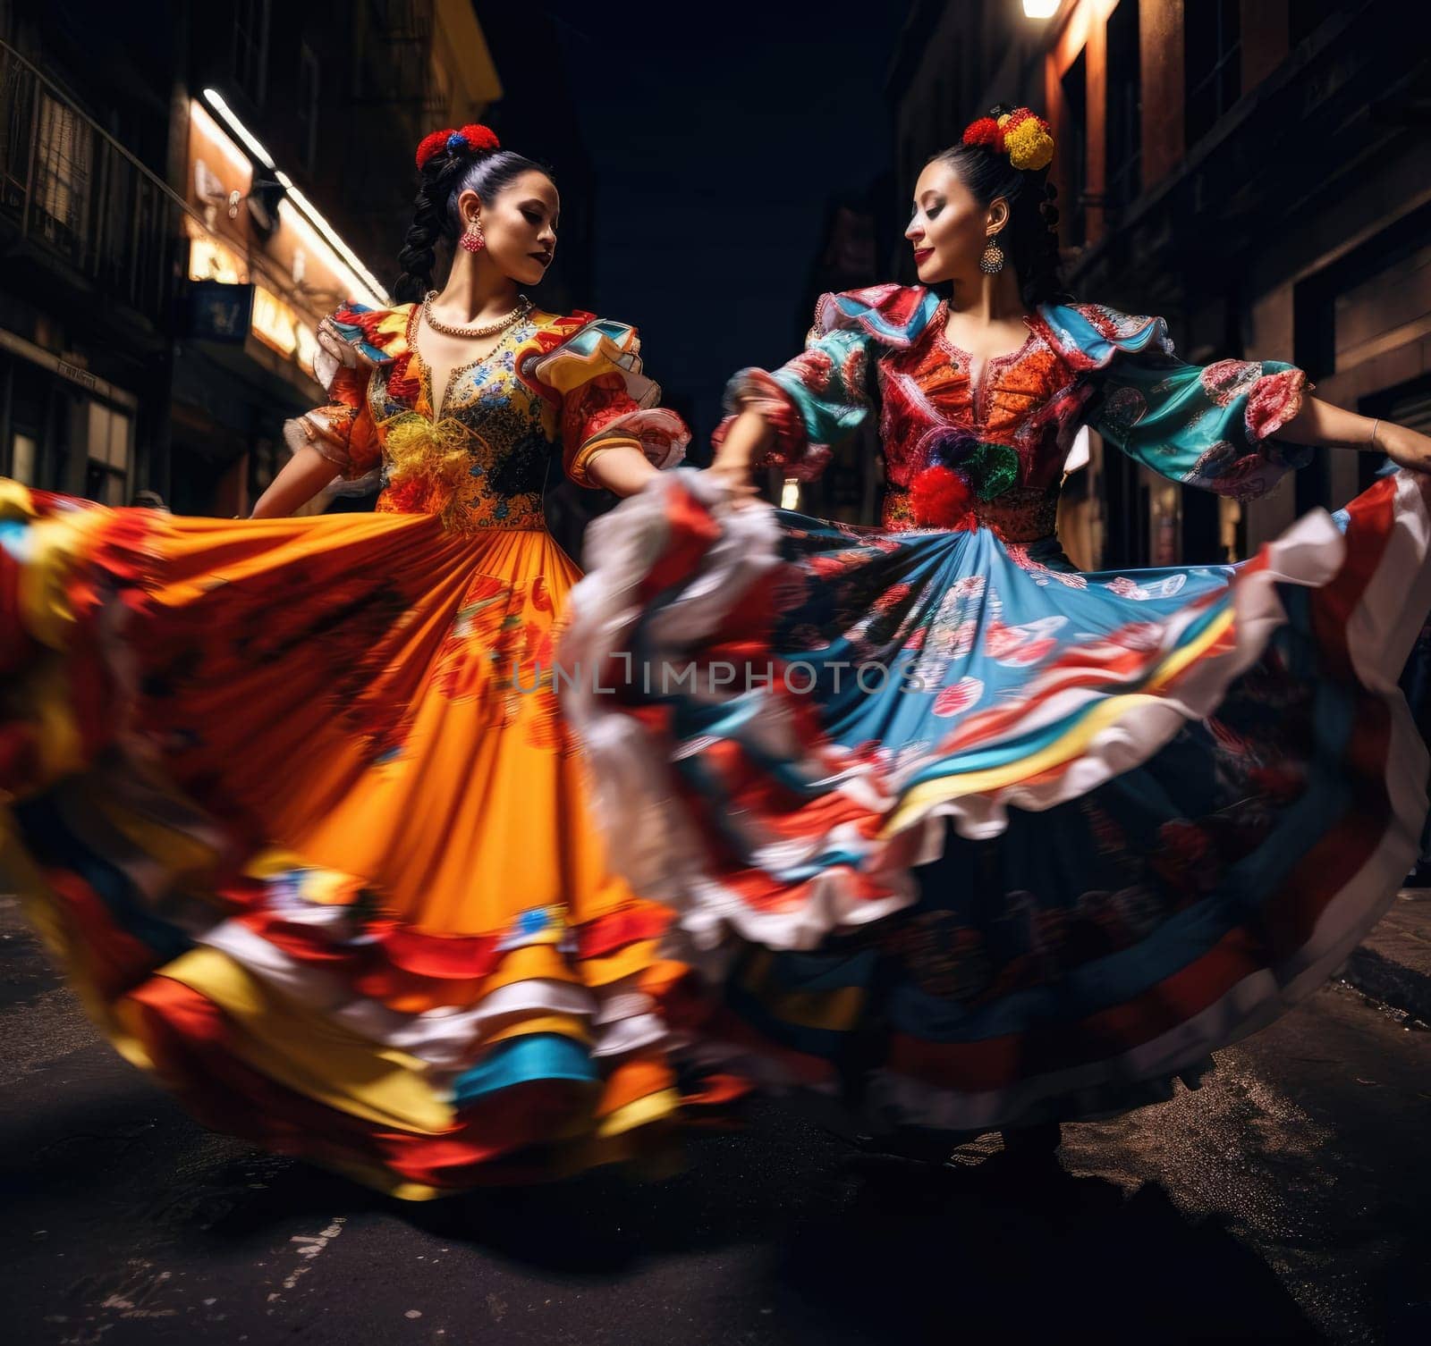
[[[727,418],[718,446],[743,411],[758,411],[774,432],[767,466],[813,481],[831,448],[876,406],[873,363],[889,348],[910,345],[939,300],[919,286],[877,285],[821,295],[804,350],[778,369],[741,369],[726,388]]]

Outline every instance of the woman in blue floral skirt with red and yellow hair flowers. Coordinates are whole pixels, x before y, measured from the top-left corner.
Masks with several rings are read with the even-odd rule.
[[[801,355],[736,376],[713,469],[594,526],[562,647],[612,860],[680,911],[700,1050],[863,1130],[1043,1153],[1195,1081],[1385,911],[1427,810],[1397,678],[1431,609],[1431,441],[1066,302],[1052,152],[997,107],[930,160],[922,285],[826,295]],[[879,528],[751,499],[871,416]],[[1317,445],[1402,471],[1236,566],[1088,574],[1055,536],[1085,425],[1238,499]]]

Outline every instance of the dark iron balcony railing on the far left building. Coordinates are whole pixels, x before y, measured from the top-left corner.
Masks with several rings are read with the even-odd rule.
[[[160,177],[0,43],[0,233],[162,323],[183,210]]]

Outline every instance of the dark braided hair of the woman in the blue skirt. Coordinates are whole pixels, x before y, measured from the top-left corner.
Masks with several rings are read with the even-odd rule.
[[[987,116],[997,119],[1013,110],[1009,103],[996,103]],[[952,144],[930,162],[934,159],[959,175],[980,206],[1000,196],[1009,203],[1009,223],[999,232],[999,247],[1019,273],[1025,308],[1070,299],[1059,260],[1058,189],[1049,182],[1047,167],[1016,169],[1006,153],[985,144]]]

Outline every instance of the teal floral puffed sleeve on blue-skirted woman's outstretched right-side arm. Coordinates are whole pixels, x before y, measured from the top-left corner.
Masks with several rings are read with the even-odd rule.
[[[1161,318],[1135,318],[1100,305],[1042,312],[1092,383],[1088,423],[1161,476],[1255,499],[1311,461],[1311,448],[1276,439],[1308,388],[1307,375],[1294,365],[1188,365],[1173,352]]]

